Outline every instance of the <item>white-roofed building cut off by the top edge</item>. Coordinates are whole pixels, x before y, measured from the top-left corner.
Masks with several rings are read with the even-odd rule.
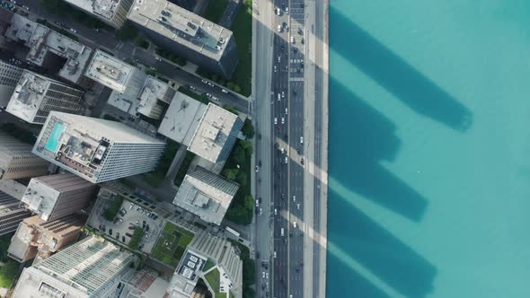
[[[133,0],[65,0],[85,13],[89,13],[114,28],[127,21]]]

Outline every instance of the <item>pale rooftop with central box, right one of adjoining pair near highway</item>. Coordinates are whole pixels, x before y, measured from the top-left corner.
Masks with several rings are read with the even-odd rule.
[[[191,137],[188,150],[210,162],[223,161],[232,150],[242,127],[243,120],[237,115],[209,103]]]

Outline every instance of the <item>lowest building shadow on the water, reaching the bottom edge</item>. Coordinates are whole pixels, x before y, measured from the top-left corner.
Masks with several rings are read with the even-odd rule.
[[[340,197],[332,190],[329,194],[330,197]],[[341,251],[346,251],[349,258],[392,287],[393,292],[409,298],[424,298],[430,294],[436,267],[345,199],[340,197],[330,205],[333,216],[328,217],[328,226],[335,228],[328,230],[328,239]],[[340,226],[348,228],[341,229]],[[359,276],[358,268],[345,264],[340,255],[328,253],[330,267],[333,269],[328,270],[328,280],[342,279],[343,285],[358,297],[385,297],[381,289],[376,290],[371,281]],[[332,292],[331,289],[328,291],[329,294]]]

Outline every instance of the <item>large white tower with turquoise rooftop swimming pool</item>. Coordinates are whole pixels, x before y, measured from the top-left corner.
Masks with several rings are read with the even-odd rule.
[[[119,122],[51,112],[33,153],[99,183],[154,171],[164,146]]]

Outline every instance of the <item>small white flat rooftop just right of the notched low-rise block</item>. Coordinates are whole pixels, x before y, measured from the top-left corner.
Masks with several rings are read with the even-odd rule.
[[[137,71],[136,67],[130,66],[101,50],[96,50],[84,75],[116,92],[123,93],[135,70]]]

